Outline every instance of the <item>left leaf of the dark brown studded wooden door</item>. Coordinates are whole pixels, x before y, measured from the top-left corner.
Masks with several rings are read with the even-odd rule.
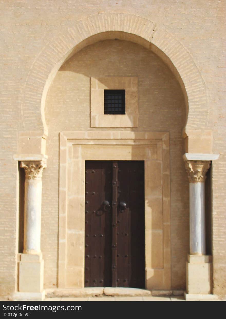
[[[111,183],[111,162],[86,161],[85,287],[111,286]]]

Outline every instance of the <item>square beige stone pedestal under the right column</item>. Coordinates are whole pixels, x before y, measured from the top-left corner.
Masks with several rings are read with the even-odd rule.
[[[188,261],[186,262],[186,289],[187,294],[191,296],[211,295],[212,256],[188,255]]]

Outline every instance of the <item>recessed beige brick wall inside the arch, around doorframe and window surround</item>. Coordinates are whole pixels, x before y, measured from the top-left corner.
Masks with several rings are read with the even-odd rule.
[[[108,76],[138,78],[138,128],[90,128],[91,78]],[[56,284],[57,274],[59,132],[124,130],[170,132],[172,286],[185,288],[185,259],[189,245],[188,180],[182,160],[181,137],[185,103],[180,86],[168,67],[138,44],[120,40],[97,42],[79,51],[60,68],[47,95],[45,114],[49,159],[43,174],[42,223],[51,229],[51,243],[45,247],[49,232],[42,228],[45,286]]]

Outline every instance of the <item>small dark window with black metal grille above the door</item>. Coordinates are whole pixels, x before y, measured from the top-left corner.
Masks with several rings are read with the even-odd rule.
[[[125,90],[104,90],[104,114],[125,114]]]

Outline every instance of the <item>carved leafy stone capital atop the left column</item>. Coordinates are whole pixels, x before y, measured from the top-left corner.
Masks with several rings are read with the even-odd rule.
[[[22,161],[20,167],[25,169],[26,179],[39,179],[46,167],[46,160]]]

